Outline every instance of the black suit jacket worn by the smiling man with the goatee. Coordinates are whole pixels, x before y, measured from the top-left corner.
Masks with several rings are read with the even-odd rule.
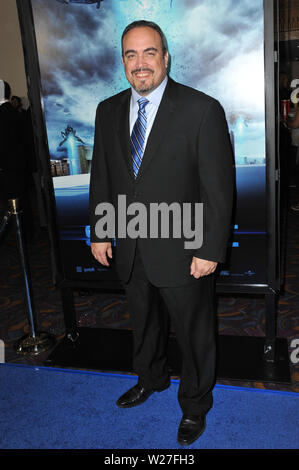
[[[142,164],[133,177],[129,108],[131,90],[98,105],[90,180],[91,241],[99,216],[95,207],[110,202],[117,208],[118,195],[127,205],[203,202],[204,227],[201,248],[187,250],[184,237],[140,238],[138,245],[150,282],[159,287],[196,282],[190,275],[192,257],[223,262],[231,221],[233,157],[225,115],[219,102],[169,78]],[[116,226],[116,238],[118,228]],[[123,282],[129,278],[136,240],[117,238],[116,270]]]

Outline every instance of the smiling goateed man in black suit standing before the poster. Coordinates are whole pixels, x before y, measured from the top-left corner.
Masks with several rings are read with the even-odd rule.
[[[213,98],[167,75],[169,53],[155,23],[134,22],[122,35],[122,62],[131,89],[100,103],[90,182],[91,250],[103,265],[111,240],[97,234],[96,207],[118,195],[139,202],[203,203],[203,244],[180,238],[118,237],[116,270],[133,324],[136,386],[117,401],[128,408],[169,386],[162,296],[182,355],[178,442],[205,429],[215,381],[214,276],[225,259],[232,207],[233,165],[223,110]],[[137,127],[136,127],[137,126]],[[131,136],[131,138],[130,138]],[[117,231],[116,231],[117,235]]]

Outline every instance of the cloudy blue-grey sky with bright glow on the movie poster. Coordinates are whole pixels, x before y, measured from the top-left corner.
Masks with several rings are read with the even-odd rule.
[[[262,0],[109,0],[99,10],[32,3],[52,152],[67,124],[92,144],[98,102],[128,87],[120,38],[135,19],[160,24],[172,78],[218,99],[230,126],[240,115],[253,128],[264,121]],[[257,138],[261,156],[264,142]]]

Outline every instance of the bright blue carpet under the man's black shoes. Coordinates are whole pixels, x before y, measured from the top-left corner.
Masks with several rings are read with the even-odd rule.
[[[136,377],[0,364],[1,449],[182,449],[178,381],[141,406]],[[298,449],[299,395],[216,385],[205,433],[184,449]]]

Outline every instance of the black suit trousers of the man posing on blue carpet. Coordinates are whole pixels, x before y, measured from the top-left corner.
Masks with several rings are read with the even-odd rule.
[[[161,295],[182,355],[179,404],[184,414],[207,413],[213,403],[216,368],[214,275],[181,287],[155,287],[146,277],[137,246],[125,289],[133,327],[133,367],[139,383],[155,390],[169,384],[166,358],[169,322],[160,308]]]

